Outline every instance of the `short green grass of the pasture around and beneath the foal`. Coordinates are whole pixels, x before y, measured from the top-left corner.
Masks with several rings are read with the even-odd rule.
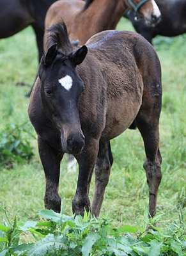
[[[118,29],[133,30],[122,19]],[[178,221],[180,208],[186,218],[185,203],[185,90],[186,35],[176,38],[157,37],[154,47],[162,65],[163,106],[160,116],[160,151],[162,153],[162,182],[159,188],[157,213],[162,214],[159,226]],[[35,134],[27,116],[29,88],[16,86],[24,81],[32,84],[37,63],[35,35],[31,28],[11,38],[0,40],[0,133],[6,124],[26,122]],[[36,136],[35,136],[36,137]],[[29,163],[13,163],[13,168],[0,170],[0,205],[10,220],[38,220],[43,209],[45,177],[38,156],[36,138],[30,138],[34,156]],[[114,164],[105,191],[102,216],[112,218],[114,225],[141,225],[148,206],[148,186],[143,170],[144,147],[138,131],[125,131],[112,140]],[[65,198],[65,214],[72,214],[77,172],[66,172],[66,157],[61,164],[59,195]],[[91,186],[90,198],[93,195]],[[0,208],[1,209],[1,208]],[[0,210],[0,222],[4,212]]]

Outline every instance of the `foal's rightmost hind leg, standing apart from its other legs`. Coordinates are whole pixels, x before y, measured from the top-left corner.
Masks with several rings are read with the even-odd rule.
[[[147,93],[148,95],[148,93]],[[150,97],[149,104],[144,96],[144,102],[136,117],[136,125],[141,132],[146,152],[144,169],[149,187],[149,213],[153,217],[157,208],[157,191],[162,178],[162,157],[159,151],[159,115],[161,108],[161,93]]]

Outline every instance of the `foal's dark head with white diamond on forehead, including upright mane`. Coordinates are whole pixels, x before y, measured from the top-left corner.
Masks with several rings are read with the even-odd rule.
[[[85,140],[78,109],[84,83],[76,66],[84,60],[87,47],[73,51],[64,22],[48,30],[47,45],[38,72],[43,109],[61,132],[63,152],[79,154]]]

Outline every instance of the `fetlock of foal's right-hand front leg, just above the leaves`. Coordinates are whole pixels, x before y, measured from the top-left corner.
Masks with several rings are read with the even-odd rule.
[[[73,214],[75,214],[75,215],[80,214],[83,217],[84,216],[84,210],[86,210],[86,212],[90,211],[89,198],[84,198],[84,199],[79,200],[79,198],[74,197],[74,199],[72,200]]]

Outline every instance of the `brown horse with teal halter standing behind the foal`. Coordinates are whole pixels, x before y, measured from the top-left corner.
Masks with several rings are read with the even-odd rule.
[[[82,45],[98,32],[116,29],[128,7],[134,9],[130,1],[148,24],[158,22],[160,11],[154,0],[87,0],[85,4],[82,0],[59,0],[47,11],[45,29],[63,18],[70,39],[78,39]]]

